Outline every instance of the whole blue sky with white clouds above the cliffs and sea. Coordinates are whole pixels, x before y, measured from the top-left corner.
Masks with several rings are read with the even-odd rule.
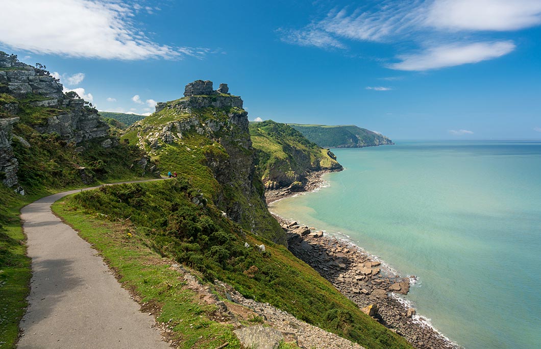
[[[250,120],[541,139],[541,0],[17,0],[2,15],[0,50],[98,110],[149,114],[202,79]]]

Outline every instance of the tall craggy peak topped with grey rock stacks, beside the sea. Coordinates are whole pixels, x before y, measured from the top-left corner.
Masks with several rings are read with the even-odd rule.
[[[220,90],[227,91],[227,85]],[[203,199],[212,200],[243,228],[285,244],[255,176],[241,98],[212,90],[208,81],[188,84],[185,95],[157,104],[153,115],[133,124],[123,137],[146,150],[163,171],[189,179]]]

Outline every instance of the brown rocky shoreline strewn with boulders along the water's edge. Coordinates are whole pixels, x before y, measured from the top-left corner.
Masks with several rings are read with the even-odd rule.
[[[325,184],[322,175],[328,172],[309,173],[308,182],[302,191],[292,192],[289,188],[283,188],[269,191],[268,195],[265,193],[267,205],[286,197],[318,190]],[[402,335],[416,348],[461,348],[439,333],[428,319],[415,314],[410,302],[398,295],[407,294],[410,285],[416,281],[414,275],[397,275],[377,256],[366,253],[350,241],[328,235],[324,231],[315,231],[312,227],[301,226],[274,213],[272,215],[287,233],[289,251],[313,267],[362,311]]]

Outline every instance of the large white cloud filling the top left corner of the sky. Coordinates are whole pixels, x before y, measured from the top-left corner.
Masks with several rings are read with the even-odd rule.
[[[115,60],[201,57],[209,51],[153,42],[134,16],[122,0],[5,1],[0,42],[39,54]]]

